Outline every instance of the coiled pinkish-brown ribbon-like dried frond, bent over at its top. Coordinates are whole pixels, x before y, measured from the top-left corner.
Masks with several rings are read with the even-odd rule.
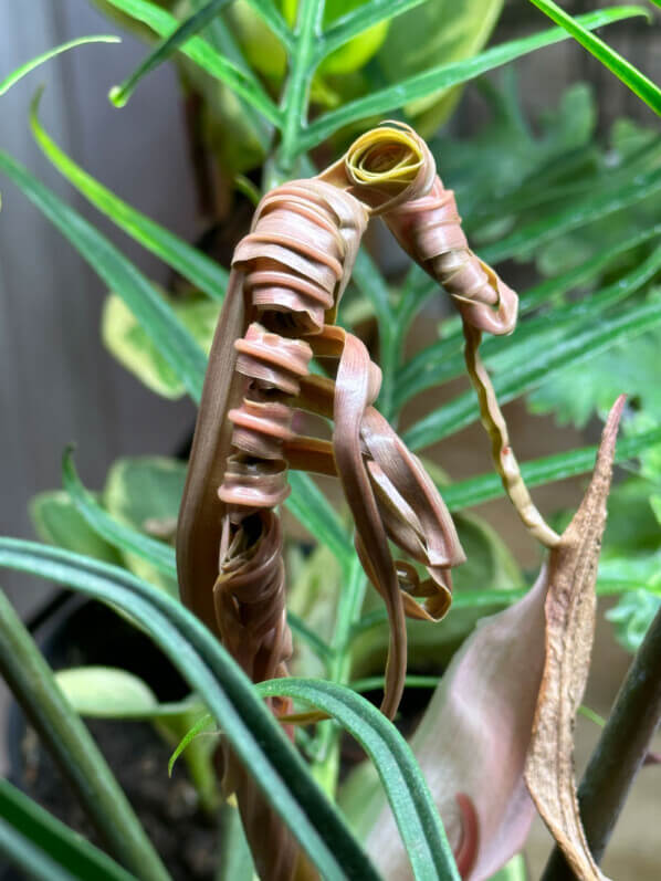
[[[468,248],[453,196],[408,126],[374,129],[318,177],[269,192],[232,261],[179,514],[177,566],[183,602],[253,681],[286,675],[291,636],[274,508],[288,493],[288,468],[336,474],[360,560],[388,610],[381,709],[392,717],[406,675],[405,615],[441,618],[450,605],[450,567],[464,557],[420,461],[371,406],[378,367],[360,340],[334,326],[373,214],[384,216],[466,321],[493,333],[512,331],[516,295]],[[313,354],[336,365],[335,380],[309,375]],[[332,443],[296,436],[294,408],[332,418]],[[388,539],[429,577],[421,580],[410,563],[395,562]],[[288,702],[272,705],[290,714]],[[293,839],[231,755],[224,764],[258,870],[290,878]],[[269,841],[266,828],[280,831]]]

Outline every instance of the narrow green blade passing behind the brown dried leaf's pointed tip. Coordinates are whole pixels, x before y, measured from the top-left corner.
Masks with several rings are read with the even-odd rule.
[[[661,427],[642,434],[621,438],[617,443],[615,462],[627,462],[659,443],[661,443]],[[597,449],[597,447],[583,447],[523,462],[521,472],[528,486],[543,486],[545,483],[566,480],[577,474],[587,474],[595,466]],[[493,473],[442,486],[441,491],[450,511],[462,511],[505,495],[500,476]]]

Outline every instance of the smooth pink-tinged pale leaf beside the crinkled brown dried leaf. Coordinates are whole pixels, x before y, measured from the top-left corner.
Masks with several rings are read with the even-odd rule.
[[[516,605],[484,619],[452,660],[411,746],[464,879],[490,878],[525,841],[523,770],[544,668],[542,570]],[[389,881],[412,878],[389,809],[367,850]]]

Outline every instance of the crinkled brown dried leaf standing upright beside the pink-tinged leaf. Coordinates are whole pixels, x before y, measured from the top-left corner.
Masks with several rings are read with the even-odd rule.
[[[589,670],[597,564],[623,405],[625,396],[620,396],[606,422],[583,503],[560,544],[550,552],[545,604],[546,662],[525,768],[525,780],[537,810],[576,877],[585,881],[604,875],[592,859],[580,822],[574,775],[574,728]]]

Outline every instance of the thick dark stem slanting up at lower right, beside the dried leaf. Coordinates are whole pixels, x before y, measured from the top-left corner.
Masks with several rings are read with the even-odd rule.
[[[597,862],[661,720],[661,610],[652,621],[578,788],[580,816]],[[562,852],[550,854],[542,881],[573,879]]]

